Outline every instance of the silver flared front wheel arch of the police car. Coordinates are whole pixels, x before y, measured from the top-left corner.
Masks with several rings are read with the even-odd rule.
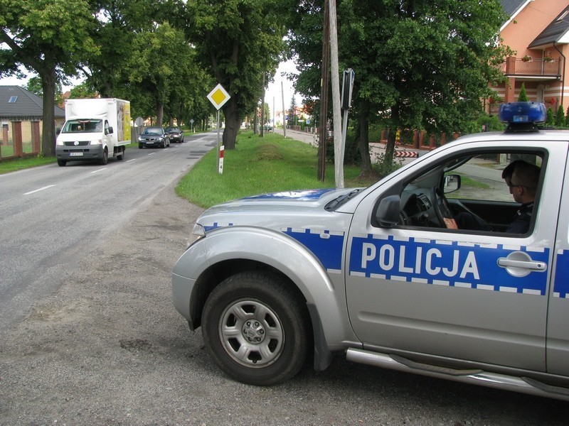
[[[247,241],[246,246],[243,241]],[[193,282],[188,295],[188,321],[192,329],[201,325],[208,295],[225,278],[243,271],[269,271],[297,288],[299,297],[307,304],[312,321],[315,369],[326,368],[331,362],[331,351],[343,349],[342,342],[356,339],[349,326],[344,285],[334,285],[314,254],[285,234],[230,226],[212,231],[191,246],[184,256],[187,262],[183,263],[189,263],[184,269],[198,270],[196,278],[188,277]],[[199,270],[198,263],[205,263],[206,267]],[[174,273],[185,275],[176,268]]]

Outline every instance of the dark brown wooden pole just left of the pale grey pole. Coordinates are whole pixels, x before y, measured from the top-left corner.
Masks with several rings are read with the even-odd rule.
[[[328,76],[330,63],[330,15],[328,1],[324,1],[324,24],[322,26],[322,70],[320,77],[320,129],[318,144],[318,180],[326,180],[326,138],[328,131]]]

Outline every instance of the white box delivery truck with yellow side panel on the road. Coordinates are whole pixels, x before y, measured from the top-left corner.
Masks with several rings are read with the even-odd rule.
[[[65,124],[55,141],[58,165],[68,161],[124,158],[130,143],[130,102],[122,99],[68,99]]]

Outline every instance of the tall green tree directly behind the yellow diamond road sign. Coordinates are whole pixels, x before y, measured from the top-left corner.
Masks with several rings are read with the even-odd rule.
[[[285,35],[281,8],[276,0],[188,3],[188,38],[196,45],[203,65],[230,94],[223,106],[226,150],[235,148],[243,118],[255,109],[265,76],[274,75],[279,63]]]

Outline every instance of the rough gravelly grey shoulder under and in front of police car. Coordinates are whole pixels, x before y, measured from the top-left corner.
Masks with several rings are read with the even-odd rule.
[[[566,425],[567,403],[350,364],[230,381],[171,303],[201,209],[173,187],[0,335],[0,425]]]

